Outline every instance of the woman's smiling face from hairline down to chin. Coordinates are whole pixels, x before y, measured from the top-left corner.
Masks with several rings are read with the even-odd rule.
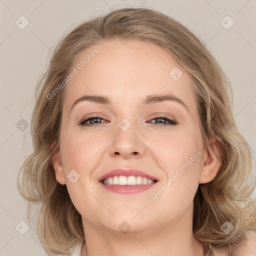
[[[72,72],[64,88],[63,168],[56,179],[66,184],[83,225],[120,231],[159,228],[182,218],[191,223],[206,151],[186,71],[156,44],[106,40],[86,49]],[[124,170],[110,174],[112,182],[125,184],[118,176],[127,175],[138,184],[103,184],[103,175],[116,168]],[[128,169],[142,171],[141,179]],[[157,181],[139,184],[146,175]]]

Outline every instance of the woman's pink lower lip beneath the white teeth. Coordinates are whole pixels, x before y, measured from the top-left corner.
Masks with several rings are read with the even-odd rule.
[[[152,186],[154,186],[155,183],[151,183],[148,185],[108,185],[103,184],[102,182],[99,182],[105,189],[111,190],[113,192],[119,193],[119,194],[133,194],[133,193],[139,193],[143,192]]]

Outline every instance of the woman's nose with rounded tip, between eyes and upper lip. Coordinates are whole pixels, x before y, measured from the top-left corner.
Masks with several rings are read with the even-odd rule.
[[[124,129],[125,130],[125,129]],[[114,157],[137,158],[145,153],[145,144],[135,125],[126,131],[117,126],[114,137],[110,140],[109,153]],[[136,132],[137,131],[137,132]]]

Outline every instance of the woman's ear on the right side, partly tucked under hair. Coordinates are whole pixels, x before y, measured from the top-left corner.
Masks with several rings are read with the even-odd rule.
[[[199,183],[207,183],[211,181],[217,174],[220,163],[220,146],[221,138],[217,136],[216,138],[209,141],[209,147],[213,153],[210,152],[208,147],[204,147],[203,149],[203,166],[200,173]]]

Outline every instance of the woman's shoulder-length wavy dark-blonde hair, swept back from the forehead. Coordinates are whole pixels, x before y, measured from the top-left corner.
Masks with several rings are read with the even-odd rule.
[[[250,198],[256,186],[252,155],[235,125],[230,82],[191,31],[174,19],[146,8],[121,8],[92,18],[77,25],[56,44],[36,87],[31,118],[33,152],[25,159],[17,177],[18,191],[29,201],[28,221],[31,204],[39,204],[37,232],[49,255],[70,255],[70,247],[84,241],[81,215],[70,200],[66,185],[56,181],[50,161],[59,146],[65,88],[52,100],[47,95],[70,73],[84,49],[113,38],[160,45],[188,72],[204,146],[210,150],[209,141],[216,137],[221,145],[217,175],[212,181],[199,184],[194,196],[193,234],[203,243],[205,251],[212,252],[212,247],[228,244],[230,255],[232,242],[245,237],[247,230],[256,231],[256,205]],[[234,226],[228,234],[221,229],[225,221]]]

